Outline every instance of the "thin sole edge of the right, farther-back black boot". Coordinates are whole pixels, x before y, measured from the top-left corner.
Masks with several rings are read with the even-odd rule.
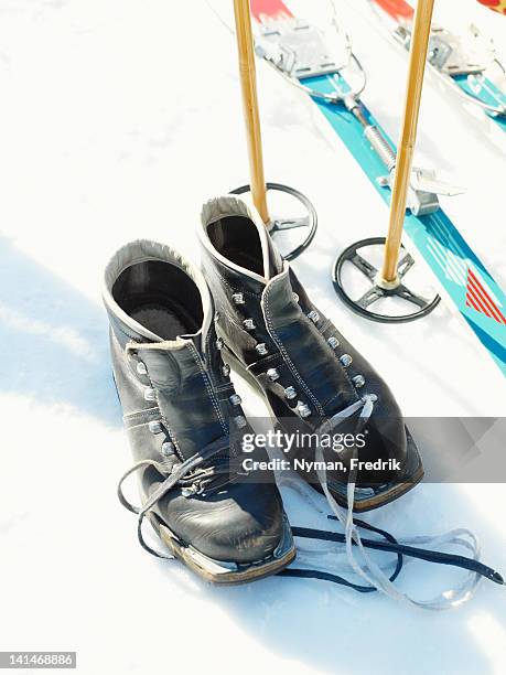
[[[225,336],[222,335],[222,338],[225,341]],[[223,355],[223,360],[230,366],[230,368],[233,368],[238,375],[244,377],[255,388],[255,390],[261,395],[269,410],[270,418],[273,425],[283,428],[282,424],[276,417],[272,410],[272,407],[270,405],[270,401],[268,397],[266,396],[263,388],[258,383],[257,378],[254,375],[251,375],[251,373],[247,368],[245,368],[245,366],[240,363],[237,356],[233,352],[230,352],[230,350],[227,347],[226,343],[224,345],[222,355]],[[358,494],[356,494],[354,506],[353,506],[356,513],[364,513],[366,511],[373,511],[375,508],[379,508],[380,506],[385,506],[386,504],[389,504],[390,502],[394,502],[395,500],[398,500],[402,495],[407,494],[410,490],[412,490],[423,479],[423,475],[424,475],[423,465],[422,465],[417,446],[415,443],[415,440],[412,439],[408,428],[406,428],[406,433],[407,433],[407,439],[408,439],[408,456],[410,457],[410,462],[413,464],[409,480],[407,480],[406,482],[396,483],[395,485],[391,485],[387,488],[386,490],[384,490],[381,493],[378,493],[372,496],[359,496]],[[314,484],[311,483],[311,484],[315,490],[317,490],[317,492],[321,492],[321,493],[323,492],[322,488],[319,484],[316,483]],[[344,483],[342,485],[343,485],[344,491],[346,491],[346,485]],[[333,488],[332,482],[329,482],[329,489],[333,497],[340,504],[340,506],[343,506],[344,508],[346,508],[347,507],[346,495],[345,494],[343,495],[338,490]],[[358,489],[357,492],[359,492],[359,490],[360,489]]]

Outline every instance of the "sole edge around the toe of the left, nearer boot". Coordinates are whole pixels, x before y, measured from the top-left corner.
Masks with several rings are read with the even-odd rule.
[[[151,525],[169,550],[204,581],[219,586],[240,586],[278,574],[295,559],[295,545],[287,516],[283,516],[283,533],[277,553],[258,562],[224,562],[209,558],[189,544],[181,542],[170,528],[157,518]]]

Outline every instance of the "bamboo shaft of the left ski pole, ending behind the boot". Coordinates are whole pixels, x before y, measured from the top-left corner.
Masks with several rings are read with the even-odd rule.
[[[249,0],[234,0],[234,13],[236,18],[239,74],[248,141],[251,195],[257,211],[267,225],[269,223],[269,211],[267,207],[266,179],[263,174],[260,115],[258,113],[257,73],[255,68],[255,49]]]

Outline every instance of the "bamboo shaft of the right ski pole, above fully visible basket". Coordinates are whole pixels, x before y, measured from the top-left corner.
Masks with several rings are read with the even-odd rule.
[[[397,267],[399,264],[406,203],[417,140],[418,115],[420,111],[433,8],[434,0],[418,0],[415,13],[402,131],[397,153],[396,175],[390,204],[390,222],[385,243],[385,260],[381,279],[379,279],[380,286],[398,285]]]

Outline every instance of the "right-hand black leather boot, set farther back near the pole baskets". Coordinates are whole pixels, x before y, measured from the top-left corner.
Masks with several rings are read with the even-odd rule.
[[[202,221],[203,267],[224,358],[263,394],[281,428],[354,436],[337,457],[330,448],[292,450],[295,468],[356,511],[410,490],[423,469],[391,392],[314,307],[255,210],[238,197],[219,197],[204,205]],[[308,464],[315,458],[342,467],[322,473]],[[301,469],[302,460],[308,465]],[[359,463],[367,461],[375,467]]]

